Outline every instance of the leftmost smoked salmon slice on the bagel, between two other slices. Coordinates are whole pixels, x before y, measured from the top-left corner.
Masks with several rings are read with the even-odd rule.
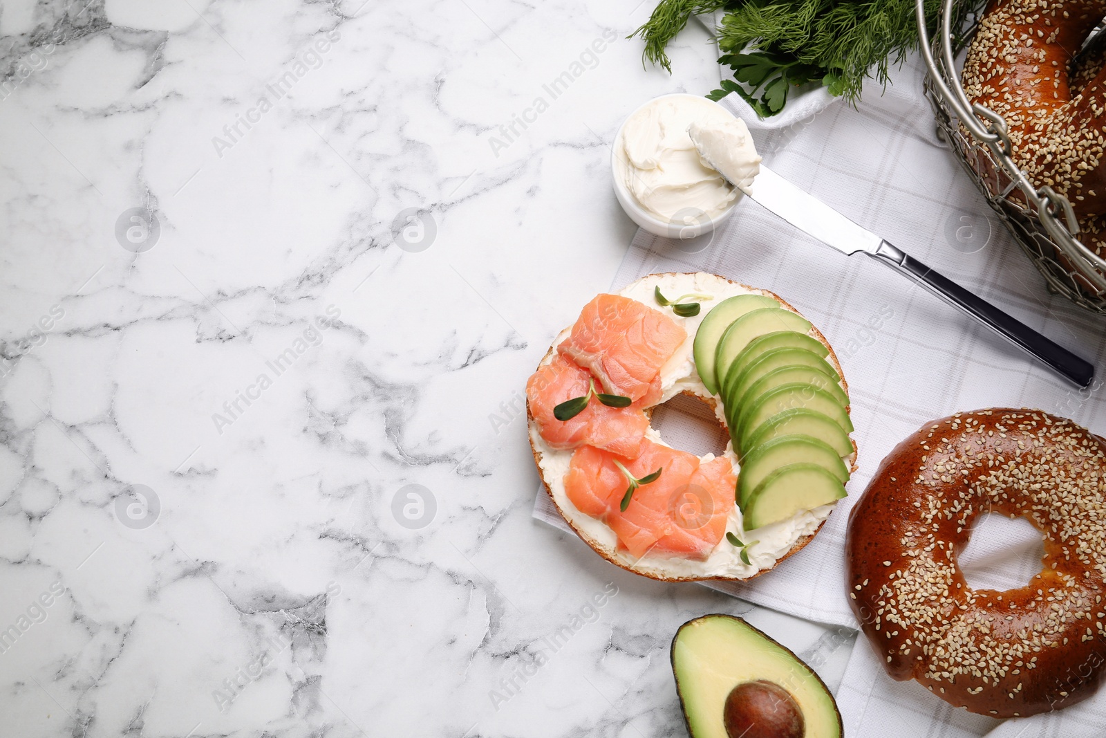
[[[553,416],[561,403],[586,395],[591,378],[587,370],[561,355],[534,372],[526,382],[526,401],[538,432],[553,448],[587,444],[626,458],[637,456],[649,427],[639,406],[607,407],[593,396],[578,415],[563,422]]]

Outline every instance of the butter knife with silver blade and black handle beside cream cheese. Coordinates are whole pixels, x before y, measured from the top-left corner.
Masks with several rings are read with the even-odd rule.
[[[845,256],[863,251],[950,302],[999,335],[1010,340],[1079,387],[1095,377],[1095,367],[1060,344],[1011,318],[869,230],[856,225],[813,195],[795,187],[763,164],[747,195],[795,228]]]

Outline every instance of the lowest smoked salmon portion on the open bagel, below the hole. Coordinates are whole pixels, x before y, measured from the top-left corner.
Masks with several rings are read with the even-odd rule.
[[[636,479],[664,471],[634,491],[625,511],[620,503],[629,482],[615,460],[609,451],[582,446],[573,454],[564,487],[576,509],[615,532],[620,549],[638,558],[668,553],[705,559],[722,540],[737,484],[726,458],[700,464],[692,454],[645,439],[641,453],[623,466]]]

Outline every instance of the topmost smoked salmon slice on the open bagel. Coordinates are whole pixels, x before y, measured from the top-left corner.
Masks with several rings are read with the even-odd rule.
[[[620,294],[599,294],[584,305],[559,346],[591,370],[604,392],[654,404],[660,398],[660,367],[687,339],[671,318]]]

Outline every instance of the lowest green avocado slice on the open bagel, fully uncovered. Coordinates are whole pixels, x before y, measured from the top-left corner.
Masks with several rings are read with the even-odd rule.
[[[837,477],[817,464],[802,461],[780,467],[749,493],[742,509],[743,528],[755,530],[786,520],[802,510],[830,505],[845,497]]]

